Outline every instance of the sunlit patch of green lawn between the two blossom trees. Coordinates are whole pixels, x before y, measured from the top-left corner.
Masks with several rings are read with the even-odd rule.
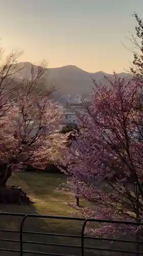
[[[69,206],[71,202],[70,193],[66,193],[60,187],[61,183],[66,182],[66,176],[61,174],[35,174],[35,173],[19,173],[14,175],[9,183],[18,184],[27,195],[35,202],[34,211],[40,215],[52,215],[62,217],[82,217],[80,211]],[[85,204],[83,201],[81,205]],[[23,207],[21,207],[23,208]],[[25,208],[25,206],[24,206]],[[23,209],[24,210],[24,209]],[[46,222],[49,223],[49,220]],[[61,220],[50,220],[49,228],[56,231],[61,227]],[[65,227],[67,225],[67,227]],[[80,225],[76,228],[71,225],[70,221],[64,221],[63,229],[68,228],[71,232],[76,232]]]

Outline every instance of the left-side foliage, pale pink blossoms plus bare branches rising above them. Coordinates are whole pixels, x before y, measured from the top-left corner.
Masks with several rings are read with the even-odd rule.
[[[31,79],[18,79],[17,57],[17,53],[10,54],[0,70],[0,185],[5,185],[13,170],[24,164],[45,167],[50,151],[56,151],[55,146],[60,147],[64,137],[51,135],[62,112],[49,99],[53,88],[43,90],[44,67],[34,73],[32,65]]]

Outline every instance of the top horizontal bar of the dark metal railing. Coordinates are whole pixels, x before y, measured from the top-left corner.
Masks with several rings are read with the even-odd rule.
[[[25,214],[11,214],[10,212],[0,212],[0,215],[4,216],[17,216],[17,217],[25,217]],[[51,216],[51,215],[38,215],[38,214],[27,214],[27,217],[33,218],[44,218],[44,219],[60,219],[60,220],[74,220],[74,221],[86,221],[85,218],[74,218],[74,217],[61,217],[61,216]],[[132,221],[113,221],[113,220],[103,220],[103,219],[88,219],[88,222],[99,222],[99,223],[112,223],[112,224],[127,224],[134,226],[143,226],[141,222],[132,222]]]

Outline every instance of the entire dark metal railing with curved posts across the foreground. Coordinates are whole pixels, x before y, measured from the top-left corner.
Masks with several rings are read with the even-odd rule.
[[[35,244],[35,245],[42,245],[42,246],[56,246],[56,247],[65,247],[65,248],[73,248],[73,249],[79,249],[80,254],[78,255],[84,256],[85,250],[92,250],[93,252],[100,252],[100,251],[109,251],[109,252],[121,252],[127,253],[130,255],[143,255],[143,251],[137,251],[137,250],[124,250],[124,249],[110,249],[110,248],[103,248],[103,247],[93,247],[93,246],[85,246],[84,241],[85,240],[97,240],[97,241],[107,241],[107,242],[122,242],[122,243],[128,243],[128,244],[135,244],[143,245],[143,241],[133,241],[133,240],[121,240],[121,239],[112,239],[112,238],[100,238],[95,236],[85,236],[84,231],[85,227],[88,222],[96,222],[96,223],[111,223],[111,224],[121,224],[121,225],[135,225],[135,226],[143,226],[143,223],[140,222],[127,222],[127,221],[110,221],[110,220],[99,220],[99,219],[85,219],[85,218],[73,218],[73,217],[59,217],[59,216],[47,216],[47,215],[34,215],[34,214],[16,214],[16,213],[8,213],[8,212],[0,212],[0,218],[1,216],[13,216],[13,217],[22,217],[22,221],[20,223],[19,230],[10,230],[10,229],[0,229],[0,232],[9,232],[9,233],[18,233],[19,234],[19,240],[13,240],[13,239],[0,239],[0,242],[11,242],[11,243],[20,243],[20,249],[9,249],[9,248],[0,248],[0,251],[7,251],[7,252],[16,252],[19,253],[20,256],[24,256],[26,253],[29,254],[35,254],[35,255],[53,255],[53,256],[72,256],[71,254],[60,254],[60,253],[50,253],[50,252],[41,252],[41,251],[31,251],[31,250],[24,250],[23,244]],[[59,219],[59,220],[72,220],[72,221],[82,221],[82,229],[81,229],[81,235],[75,236],[73,234],[60,234],[60,233],[46,233],[46,232],[34,232],[34,231],[24,231],[23,226],[25,223],[25,220],[27,218],[43,218],[43,219]],[[56,237],[67,237],[67,238],[74,238],[74,239],[80,239],[80,245],[70,245],[70,244],[55,244],[55,243],[45,243],[45,242],[36,242],[36,241],[25,241],[23,240],[23,234],[38,234],[38,235],[44,235],[44,236],[56,236]],[[1,253],[0,253],[1,254]],[[14,254],[13,254],[14,255]],[[86,254],[87,255],[87,254]]]

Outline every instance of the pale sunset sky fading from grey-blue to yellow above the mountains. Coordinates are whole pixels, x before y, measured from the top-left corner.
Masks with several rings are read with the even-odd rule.
[[[134,12],[143,17],[143,0],[0,0],[1,44],[5,54],[18,48],[19,61],[45,59],[49,68],[124,72]]]

